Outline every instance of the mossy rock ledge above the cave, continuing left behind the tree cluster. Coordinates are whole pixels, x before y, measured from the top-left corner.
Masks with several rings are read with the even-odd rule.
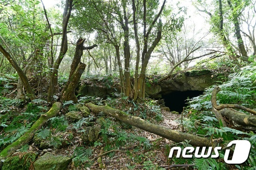
[[[217,76],[213,75],[210,70],[191,70],[182,72],[173,75],[160,83],[147,84],[145,87],[146,97],[160,99],[162,95],[169,94],[173,91],[203,91],[205,88],[213,85],[216,80],[218,80]],[[95,83],[90,82],[80,85],[78,94],[80,94],[80,96],[90,95],[106,98],[107,95],[111,95],[113,92],[120,92],[120,87],[118,85],[109,86],[107,88],[100,85],[99,82],[100,80],[95,81]],[[104,83],[102,82],[101,84]]]

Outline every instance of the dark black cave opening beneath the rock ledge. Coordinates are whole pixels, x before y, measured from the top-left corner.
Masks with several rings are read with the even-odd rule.
[[[187,106],[187,98],[192,99],[202,95],[203,91],[174,91],[167,95],[162,95],[162,98],[165,100],[165,106],[169,107],[171,111],[182,112],[183,107]]]

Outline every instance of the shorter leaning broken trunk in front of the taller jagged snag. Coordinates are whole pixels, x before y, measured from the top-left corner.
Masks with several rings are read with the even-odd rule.
[[[73,100],[75,103],[77,102],[77,97],[75,96],[75,88],[79,84],[79,80],[85,70],[85,67],[86,65],[84,63],[79,63],[74,74],[70,77],[69,84],[67,84],[63,90],[61,95],[62,101]]]

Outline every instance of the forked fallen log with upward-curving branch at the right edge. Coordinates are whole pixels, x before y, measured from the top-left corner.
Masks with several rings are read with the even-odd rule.
[[[212,92],[211,102],[212,102],[212,105],[213,105],[213,113],[215,114],[217,112],[217,113],[221,114],[221,117],[225,116],[229,120],[233,120],[236,124],[239,124],[239,125],[256,127],[256,116],[246,115],[244,113],[241,113],[239,111],[229,109],[229,108],[236,108],[236,109],[240,109],[240,110],[245,110],[245,111],[248,111],[250,113],[256,112],[255,110],[251,110],[251,109],[248,109],[248,108],[246,108],[244,106],[240,106],[240,105],[231,105],[231,104],[222,104],[222,105],[219,105],[219,106],[217,105],[216,95],[220,90],[221,89],[218,86],[216,86],[213,89],[213,92]],[[218,119],[218,117],[217,117],[217,119]],[[224,121],[224,120],[222,120],[222,121]]]

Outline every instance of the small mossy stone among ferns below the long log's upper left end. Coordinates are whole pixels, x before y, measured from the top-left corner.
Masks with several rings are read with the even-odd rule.
[[[95,142],[98,139],[101,128],[99,126],[90,126],[85,128],[85,132],[80,136],[83,142]]]

